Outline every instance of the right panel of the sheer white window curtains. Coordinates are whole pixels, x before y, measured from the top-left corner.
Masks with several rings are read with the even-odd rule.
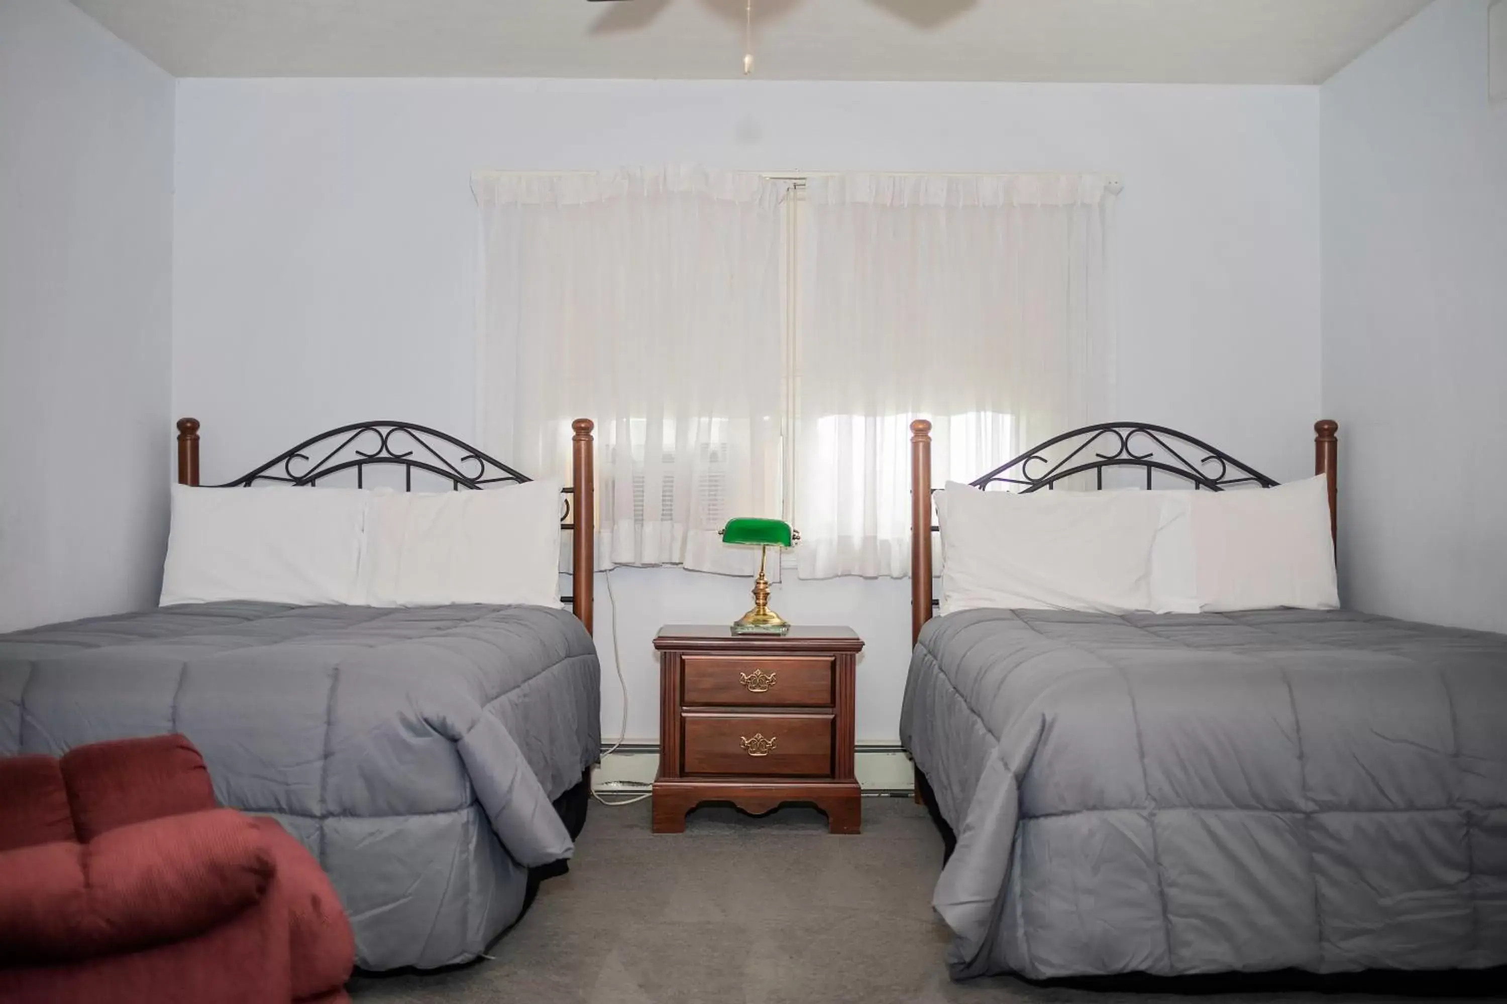
[[[909,423],[934,483],[1103,417],[1108,230],[1096,175],[806,182],[796,548],[803,578],[910,572]]]

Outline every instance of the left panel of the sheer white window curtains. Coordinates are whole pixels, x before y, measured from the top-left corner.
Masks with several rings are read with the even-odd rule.
[[[482,449],[568,471],[597,421],[598,563],[749,572],[778,516],[787,187],[698,167],[479,172]]]

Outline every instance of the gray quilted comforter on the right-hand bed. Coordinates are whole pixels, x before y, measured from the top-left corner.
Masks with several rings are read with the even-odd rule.
[[[901,739],[957,832],[954,977],[1507,963],[1507,637],[957,613]]]

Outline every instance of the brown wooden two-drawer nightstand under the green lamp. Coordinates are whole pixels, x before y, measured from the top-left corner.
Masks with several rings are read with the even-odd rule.
[[[735,635],[725,625],[660,628],[660,768],[654,832],[684,832],[699,802],[766,813],[812,802],[835,834],[862,823],[853,780],[850,628]]]

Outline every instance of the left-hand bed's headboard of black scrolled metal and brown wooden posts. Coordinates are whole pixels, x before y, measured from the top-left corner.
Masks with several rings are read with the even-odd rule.
[[[561,596],[591,634],[592,569],[595,566],[592,516],[595,471],[591,418],[571,423],[571,485],[561,489],[561,530],[571,531],[571,596]],[[318,458],[318,459],[310,459]],[[310,437],[261,467],[214,488],[250,488],[259,483],[306,486],[341,471],[356,471],[365,485],[368,467],[401,467],[405,491],[413,473],[423,471],[461,488],[521,485],[532,480],[452,435],[408,421],[357,421]],[[199,485],[199,420],[178,420],[178,483]]]

